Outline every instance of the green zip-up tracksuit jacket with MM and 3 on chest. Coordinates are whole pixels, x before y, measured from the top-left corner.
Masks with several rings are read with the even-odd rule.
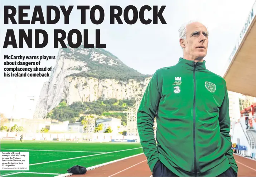
[[[158,160],[178,176],[218,176],[229,167],[237,172],[228,105],[226,81],[207,70],[205,61],[180,58],[156,70],[137,112],[151,172]]]

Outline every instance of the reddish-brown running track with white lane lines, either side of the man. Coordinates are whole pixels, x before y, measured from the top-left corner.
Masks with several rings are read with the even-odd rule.
[[[256,160],[234,154],[238,166],[238,176],[256,176]],[[144,154],[128,158],[119,162],[108,164],[103,167],[88,170],[83,175],[72,175],[71,177],[82,176],[107,176],[107,177],[139,177],[151,176],[151,172]]]

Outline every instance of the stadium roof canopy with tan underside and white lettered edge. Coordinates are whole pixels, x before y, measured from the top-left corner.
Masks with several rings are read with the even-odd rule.
[[[228,59],[223,78],[232,92],[256,97],[256,1]]]

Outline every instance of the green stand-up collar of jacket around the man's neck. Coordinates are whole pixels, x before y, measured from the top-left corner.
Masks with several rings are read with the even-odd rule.
[[[200,71],[200,70],[206,70],[205,63],[206,63],[205,60],[203,60],[203,62],[196,62],[196,64],[195,64],[194,61],[187,60],[184,58],[179,58],[179,62],[177,63],[177,65],[184,67],[186,69],[189,69],[189,70],[194,70],[194,67],[195,67],[196,71]]]

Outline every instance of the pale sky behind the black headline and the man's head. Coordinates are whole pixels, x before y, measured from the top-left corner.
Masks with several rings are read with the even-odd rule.
[[[43,83],[49,78],[15,78],[4,77],[4,55],[47,55],[57,56],[59,48],[53,48],[53,30],[63,29],[68,33],[71,29],[88,29],[89,42],[95,43],[95,29],[101,30],[101,43],[106,44],[106,50],[117,56],[127,66],[143,74],[153,74],[157,69],[175,65],[179,57],[183,57],[182,49],[179,45],[178,29],[180,25],[190,20],[197,20],[207,26],[209,30],[209,44],[206,60],[206,67],[216,73],[223,73],[223,65],[227,62],[232,53],[232,49],[237,43],[240,32],[246,22],[247,16],[255,0],[1,0],[0,4],[0,112],[6,117],[32,118],[35,105],[37,103]],[[24,20],[31,20],[34,5],[41,5],[44,19],[46,21],[47,5],[74,5],[69,16],[69,24],[64,24],[63,14],[57,24],[46,25],[4,25],[4,5],[13,5],[17,9],[15,20],[18,21],[18,5],[30,5],[28,17]],[[77,5],[101,5],[105,10],[105,19],[102,24],[95,25],[91,23],[89,11],[86,13],[86,24],[81,24],[81,11],[77,10]],[[143,5],[166,5],[163,12],[167,24],[143,25],[138,20],[134,25],[112,24],[110,25],[110,5],[119,5],[124,8],[128,5],[134,5],[140,9]],[[60,8],[59,8],[60,9]],[[132,13],[129,13],[131,18]],[[153,17],[153,10],[145,13],[145,18]],[[98,19],[98,13],[96,13]],[[123,18],[121,18],[124,21]],[[18,42],[19,29],[43,29],[49,35],[49,41],[46,47],[35,49],[28,48],[24,43],[24,48],[3,48],[7,29],[14,29],[16,40]],[[74,37],[75,38],[75,37]],[[34,39],[33,39],[34,41]],[[76,42],[76,41],[74,41]],[[67,40],[66,40],[67,43]],[[34,46],[34,44],[33,44]],[[60,45],[59,45],[60,46]],[[41,60],[41,67],[54,67],[56,60]],[[33,98],[33,100],[30,100]],[[14,111],[13,111],[14,110]]]

